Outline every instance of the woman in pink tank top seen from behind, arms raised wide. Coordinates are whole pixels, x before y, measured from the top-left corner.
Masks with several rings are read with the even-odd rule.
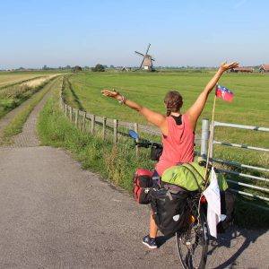
[[[133,100],[127,99],[126,96],[120,94],[118,91],[101,91],[103,95],[114,98],[127,107],[133,108],[154,126],[161,129],[163,152],[160,161],[156,164],[153,178],[157,178],[156,176],[161,178],[163,171],[171,166],[194,161],[195,127],[203,111],[207,97],[213,91],[221,75],[230,68],[238,65],[238,62],[222,63],[216,74],[213,75],[213,78],[204,87],[204,91],[198,96],[194,104],[187,109],[185,114],[181,114],[180,111],[183,105],[183,99],[178,91],[169,91],[165,95],[164,106],[166,108],[166,115],[145,108]],[[155,240],[157,231],[158,227],[151,213],[150,233],[143,238],[143,244],[150,248],[157,248]]]

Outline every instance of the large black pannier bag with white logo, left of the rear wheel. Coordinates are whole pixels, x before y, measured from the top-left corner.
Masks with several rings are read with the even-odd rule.
[[[185,221],[187,191],[180,189],[178,193],[167,188],[152,188],[153,219],[164,235],[174,234],[180,230]]]

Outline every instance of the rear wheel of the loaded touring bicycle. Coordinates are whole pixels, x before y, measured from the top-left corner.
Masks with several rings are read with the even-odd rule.
[[[193,206],[190,217],[187,228],[176,233],[178,256],[183,268],[204,269],[209,241],[207,221],[202,209],[198,216],[196,206]]]

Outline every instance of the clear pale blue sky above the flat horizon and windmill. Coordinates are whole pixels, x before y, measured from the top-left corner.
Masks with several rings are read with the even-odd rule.
[[[267,0],[0,0],[0,69],[269,64]]]

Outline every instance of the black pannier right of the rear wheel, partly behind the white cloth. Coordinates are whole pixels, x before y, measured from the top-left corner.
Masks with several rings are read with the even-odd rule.
[[[221,192],[221,214],[226,215],[224,221],[219,222],[217,226],[218,232],[224,232],[233,221],[233,212],[236,202],[236,195],[233,194],[229,189],[225,192]]]

